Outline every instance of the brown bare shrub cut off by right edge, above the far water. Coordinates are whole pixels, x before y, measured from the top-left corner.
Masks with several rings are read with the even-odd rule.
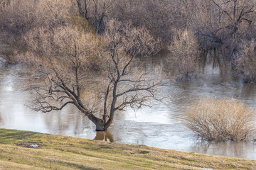
[[[256,42],[243,41],[240,50],[235,54],[235,68],[242,74],[243,81],[252,83],[256,81]]]

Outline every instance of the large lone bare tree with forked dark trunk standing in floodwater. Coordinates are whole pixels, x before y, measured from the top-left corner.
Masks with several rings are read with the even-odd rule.
[[[137,55],[158,50],[157,41],[142,28],[111,21],[104,38],[75,28],[34,30],[25,38],[29,51],[19,55],[35,77],[31,89],[34,111],[60,111],[72,104],[96,125],[110,127],[117,111],[140,108],[156,98],[156,76],[136,67]],[[99,64],[101,83],[91,85],[90,66]],[[38,82],[40,78],[43,83]],[[157,75],[159,78],[159,74]],[[98,85],[98,86],[97,86]],[[94,87],[96,86],[96,87]]]

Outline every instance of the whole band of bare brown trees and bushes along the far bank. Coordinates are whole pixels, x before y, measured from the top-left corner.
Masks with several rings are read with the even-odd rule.
[[[1,35],[21,48],[20,43],[15,45],[18,36],[34,28],[71,24],[101,35],[114,19],[148,30],[161,49],[175,51],[174,47],[180,47],[183,51],[193,42],[200,52],[218,50],[230,58],[245,81],[251,82],[256,77],[255,4],[255,0],[0,0],[0,26]],[[178,42],[182,32],[186,40]],[[174,55],[183,55],[185,60],[184,55],[191,57],[190,52]]]

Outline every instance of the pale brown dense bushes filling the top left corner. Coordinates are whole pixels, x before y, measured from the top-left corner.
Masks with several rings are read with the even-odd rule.
[[[65,23],[72,7],[68,0],[11,0],[2,9],[1,25],[5,31],[15,35],[36,27],[54,28]]]

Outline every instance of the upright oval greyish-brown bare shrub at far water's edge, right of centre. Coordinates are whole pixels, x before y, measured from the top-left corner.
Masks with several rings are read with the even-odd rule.
[[[169,46],[171,51],[171,67],[178,77],[189,77],[196,71],[198,60],[198,41],[191,30],[176,30],[173,42]]]

